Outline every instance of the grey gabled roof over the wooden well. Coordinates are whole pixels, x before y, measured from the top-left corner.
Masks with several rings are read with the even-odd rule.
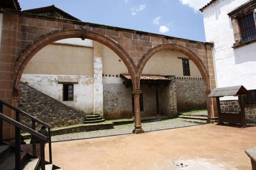
[[[208,97],[224,97],[224,96],[238,96],[238,95],[248,95],[249,92],[244,88],[244,86],[231,86],[215,88]]]

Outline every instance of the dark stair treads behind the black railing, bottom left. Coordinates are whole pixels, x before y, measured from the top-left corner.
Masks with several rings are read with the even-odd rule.
[[[41,170],[40,157],[33,157],[29,153],[20,152],[20,162],[22,170]],[[47,164],[47,162],[46,162]],[[0,142],[0,169],[2,170],[14,170],[15,168],[15,147],[6,142]],[[62,170],[59,167],[48,164],[45,165],[45,170]]]

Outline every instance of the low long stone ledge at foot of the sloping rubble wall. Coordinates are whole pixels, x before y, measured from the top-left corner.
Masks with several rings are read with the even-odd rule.
[[[77,133],[77,132],[89,132],[89,131],[94,131],[94,130],[104,130],[104,129],[113,129],[114,128],[114,123],[109,122],[109,123],[93,123],[93,124],[82,124],[80,126],[76,127],[68,127],[68,128],[60,128],[56,130],[51,131],[51,135],[62,135],[62,134],[69,134],[69,133]],[[30,139],[31,135],[26,134],[23,135],[24,139]]]

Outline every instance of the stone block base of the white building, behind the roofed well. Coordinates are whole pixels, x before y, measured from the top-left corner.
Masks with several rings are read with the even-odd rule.
[[[221,112],[240,112],[238,100],[220,101]],[[256,103],[244,104],[245,118],[247,123],[256,123]]]

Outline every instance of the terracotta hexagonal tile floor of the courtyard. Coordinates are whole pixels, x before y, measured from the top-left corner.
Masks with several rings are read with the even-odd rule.
[[[252,169],[244,150],[256,127],[212,124],[52,143],[52,160],[68,169]],[[46,158],[48,149],[46,145]]]

